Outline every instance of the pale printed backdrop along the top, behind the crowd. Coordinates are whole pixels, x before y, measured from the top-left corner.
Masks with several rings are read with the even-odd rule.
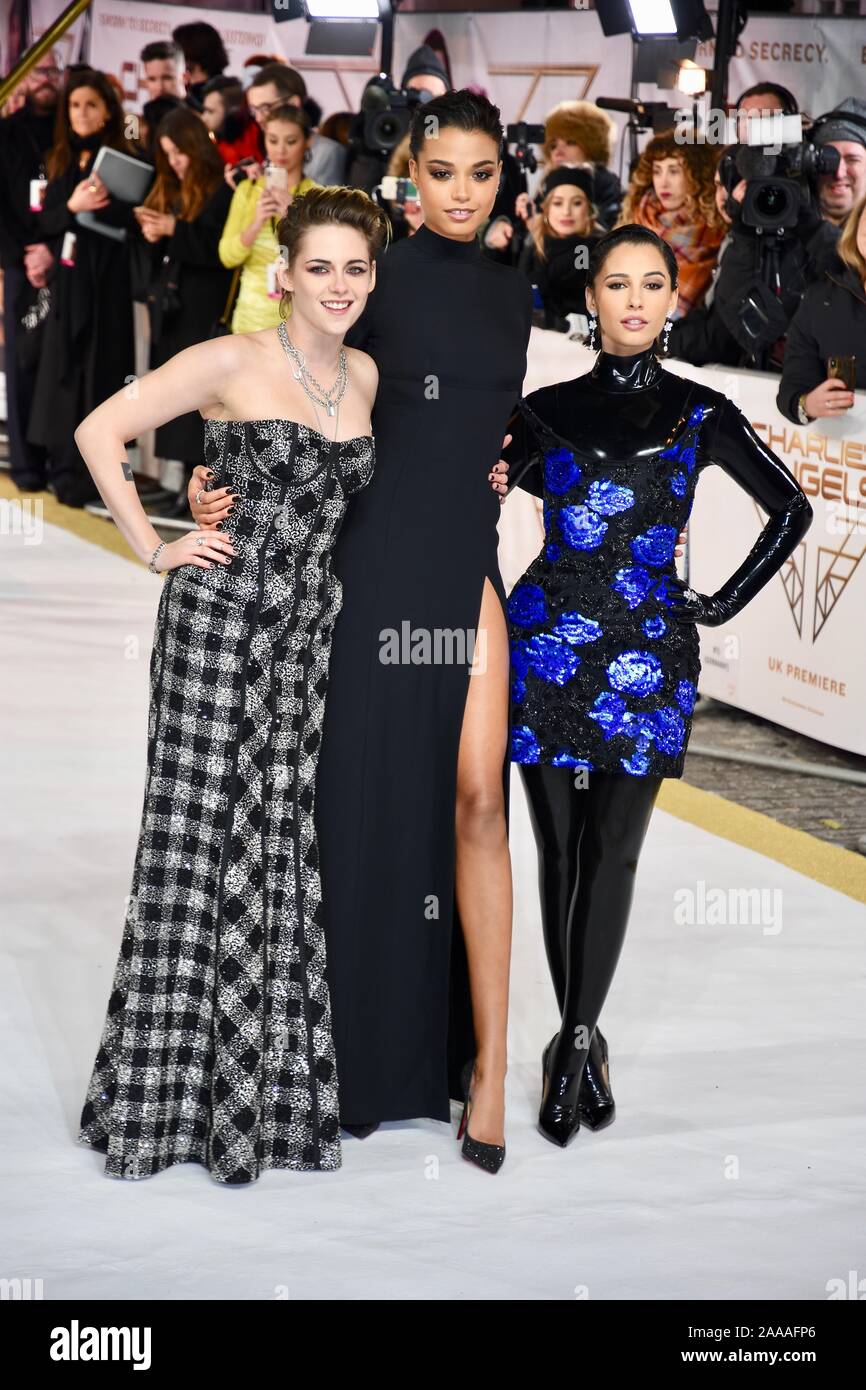
[[[6,8],[6,7],[4,7]],[[42,33],[64,8],[63,0],[31,0],[33,31]],[[133,0],[93,0],[90,18],[76,21],[63,40],[68,61],[82,57],[115,74],[126,92],[129,110],[140,108],[138,54],[145,43],[170,38],[171,29],[200,19],[202,10],[183,6],[138,4]],[[229,72],[240,74],[253,53],[282,53],[306,76],[310,90],[331,111],[356,108],[367,78],[378,68],[374,58],[307,58],[303,19],[275,24],[267,15],[214,11],[229,54]],[[395,74],[438,28],[449,46],[455,82],[477,82],[496,101],[507,121],[542,121],[556,101],[567,97],[628,96],[631,39],[605,39],[594,10],[514,11],[492,14],[398,14],[395,21]],[[7,46],[7,25],[0,39]],[[701,44],[696,61],[713,64],[713,43]],[[3,53],[6,60],[6,51]],[[336,71],[339,65],[339,71]],[[3,63],[4,70],[8,63]],[[751,18],[730,70],[730,92],[737,95],[759,78],[791,88],[803,110],[820,115],[844,96],[866,89],[866,24],[863,19],[763,15]],[[642,85],[644,99],[685,97]],[[623,117],[616,118],[620,125]]]

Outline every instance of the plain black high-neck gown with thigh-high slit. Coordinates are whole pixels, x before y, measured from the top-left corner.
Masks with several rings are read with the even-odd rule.
[[[348,338],[379,388],[375,473],[334,555],[343,607],[317,792],[343,1123],[448,1120],[474,1051],[457,751],[485,577],[505,614],[488,474],[520,396],[531,303],[525,277],[477,242],[421,227],[381,259]],[[507,798],[507,752],[502,776]]]

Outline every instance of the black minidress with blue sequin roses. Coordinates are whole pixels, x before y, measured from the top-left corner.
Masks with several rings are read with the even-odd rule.
[[[708,409],[624,460],[521,410],[544,464],[545,543],[509,598],[512,759],[680,777],[701,660],[695,626],[670,616],[670,580]]]

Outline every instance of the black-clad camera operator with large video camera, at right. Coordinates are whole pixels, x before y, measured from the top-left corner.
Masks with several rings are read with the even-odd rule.
[[[731,366],[780,370],[784,336],[806,289],[828,268],[838,228],[822,217],[819,182],[838,152],[803,139],[798,114],[751,114],[741,143],[721,158],[731,240],[714,286],[714,306],[738,345]]]

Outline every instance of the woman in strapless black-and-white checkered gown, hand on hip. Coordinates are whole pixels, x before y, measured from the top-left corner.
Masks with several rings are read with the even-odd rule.
[[[360,190],[297,199],[279,227],[291,335],[281,324],[189,348],[76,431],[118,528],[170,571],[132,892],[79,1131],[113,1177],[199,1162],[249,1183],[341,1165],[314,776],[342,600],[331,548],[374,467],[378,374],[342,339],[385,231]],[[161,545],[118,459],[195,409],[207,461],[239,498],[222,532]]]

